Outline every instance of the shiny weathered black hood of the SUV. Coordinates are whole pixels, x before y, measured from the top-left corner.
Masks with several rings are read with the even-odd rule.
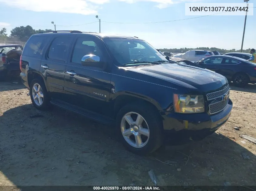
[[[212,92],[228,85],[226,78],[209,70],[183,64],[161,64],[141,67],[128,67],[130,71],[161,78],[179,84],[194,92]]]

